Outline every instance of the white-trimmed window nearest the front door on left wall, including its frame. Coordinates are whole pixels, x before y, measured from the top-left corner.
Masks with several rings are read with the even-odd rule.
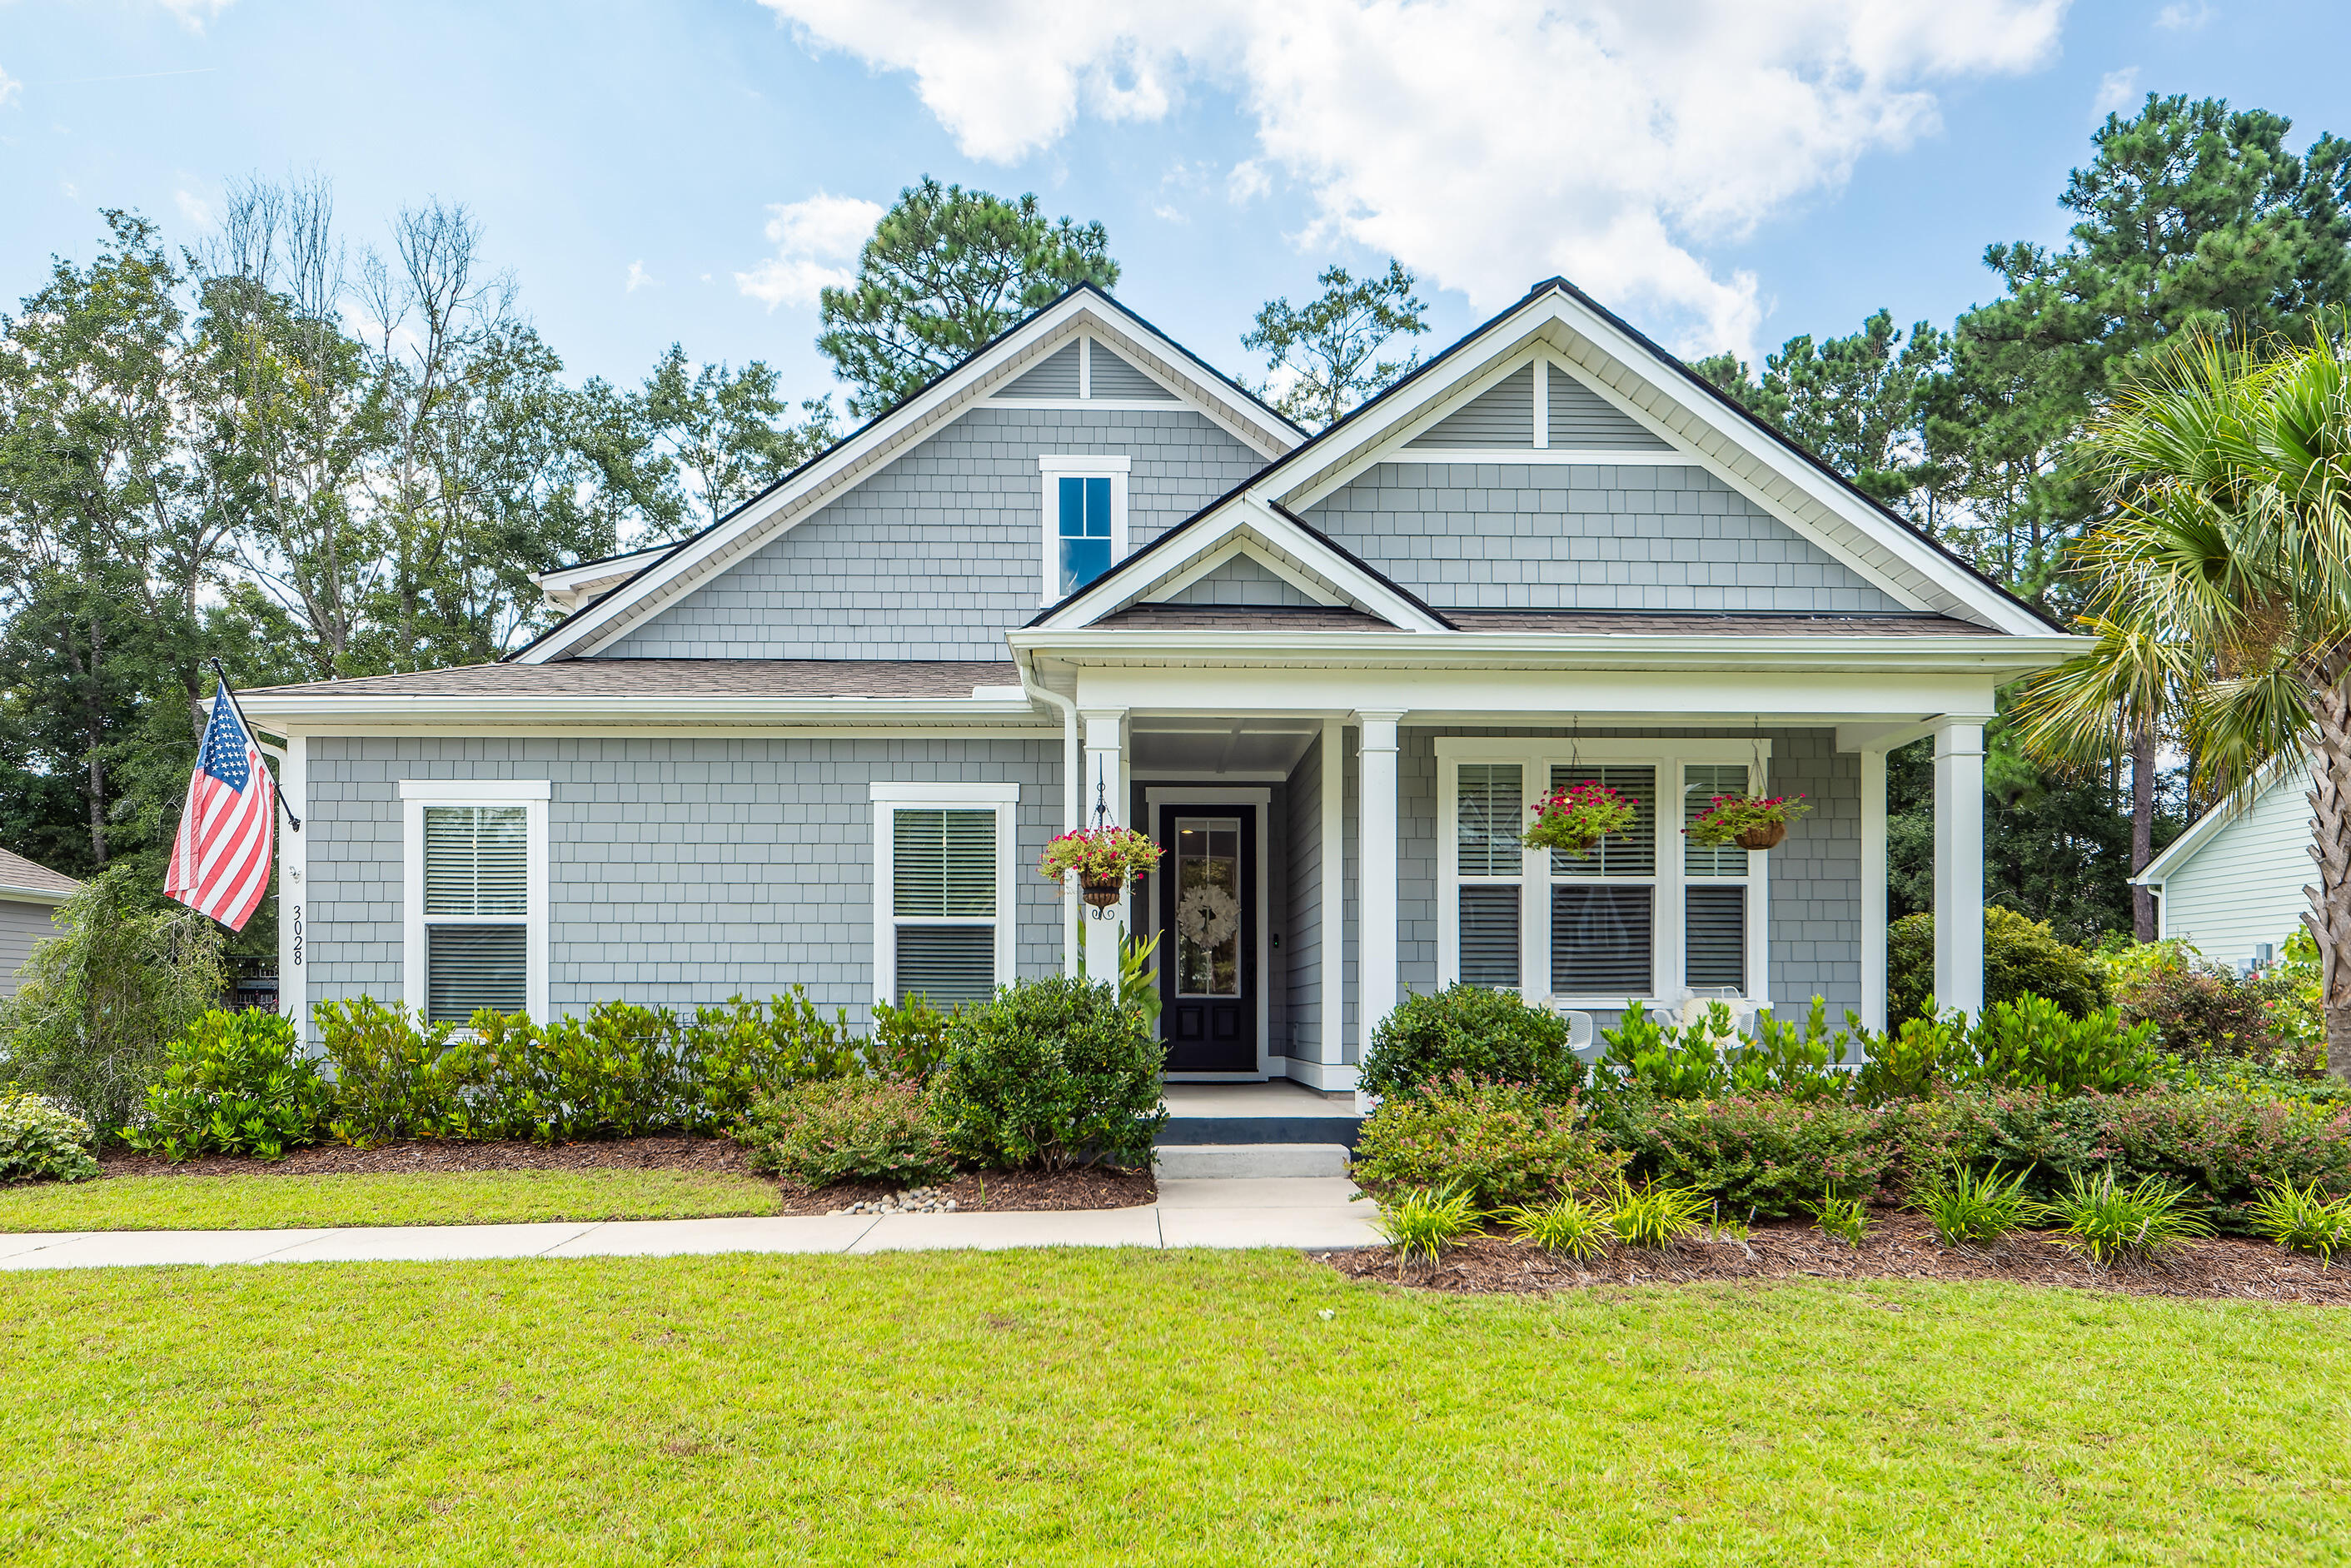
[[[985,1001],[1013,978],[1020,785],[872,785],[875,994]]]

